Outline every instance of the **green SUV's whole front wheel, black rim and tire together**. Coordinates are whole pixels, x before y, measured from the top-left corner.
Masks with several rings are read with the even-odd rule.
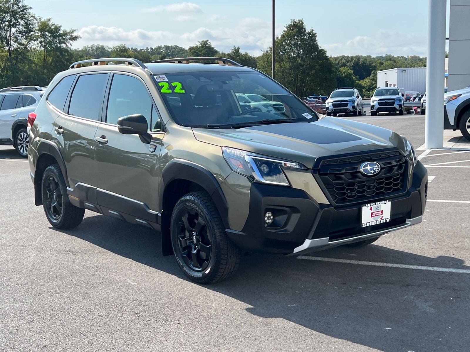
[[[238,268],[242,251],[227,237],[220,214],[204,191],[188,193],[178,200],[170,236],[176,261],[191,281],[216,283]]]

